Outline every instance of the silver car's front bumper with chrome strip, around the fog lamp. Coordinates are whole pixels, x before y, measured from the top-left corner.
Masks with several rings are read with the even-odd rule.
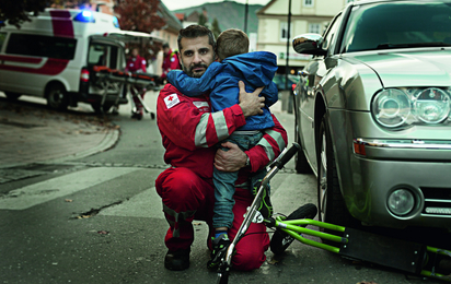
[[[354,156],[360,164],[358,180],[367,196],[350,202],[363,205],[351,209],[352,215],[372,225],[451,229],[451,163],[438,161],[449,157],[451,150],[400,149],[398,145],[367,145],[366,150],[368,156]],[[403,216],[393,214],[388,206],[389,196],[400,188],[408,189],[415,197],[414,209]]]

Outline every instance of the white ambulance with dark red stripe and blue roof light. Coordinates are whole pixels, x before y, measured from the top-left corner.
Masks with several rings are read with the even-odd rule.
[[[125,69],[124,43],[105,36],[114,31],[120,31],[115,16],[70,9],[46,9],[20,28],[0,28],[0,91],[10,99],[44,97],[55,109],[81,102],[107,111],[126,104],[124,84],[105,84],[93,69]]]

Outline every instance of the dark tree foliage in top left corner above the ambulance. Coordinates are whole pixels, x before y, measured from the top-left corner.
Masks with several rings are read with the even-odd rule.
[[[31,21],[32,14],[37,15],[48,4],[48,0],[1,0],[0,27],[7,23],[20,27],[23,22]]]

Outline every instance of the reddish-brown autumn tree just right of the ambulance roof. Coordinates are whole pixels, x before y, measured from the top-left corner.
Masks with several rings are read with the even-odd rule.
[[[122,29],[151,33],[165,25],[158,15],[160,0],[124,0],[115,7]]]

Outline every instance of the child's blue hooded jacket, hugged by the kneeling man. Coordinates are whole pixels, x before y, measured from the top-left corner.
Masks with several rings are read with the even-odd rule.
[[[201,78],[188,76],[182,70],[167,73],[169,82],[187,96],[200,96],[210,92],[212,113],[239,104],[239,81],[243,81],[246,92],[265,86],[261,96],[265,96],[263,115],[246,118],[246,125],[238,130],[263,130],[274,127],[269,106],[278,100],[277,85],[273,78],[277,71],[276,55],[255,51],[228,57],[222,62],[212,62]]]

